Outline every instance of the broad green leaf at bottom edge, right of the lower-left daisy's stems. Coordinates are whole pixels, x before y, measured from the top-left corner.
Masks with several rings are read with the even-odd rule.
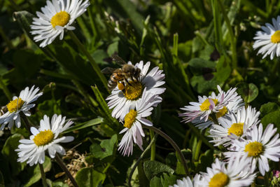
[[[106,179],[106,174],[97,172],[92,167],[80,169],[75,177],[78,186],[97,187]]]

